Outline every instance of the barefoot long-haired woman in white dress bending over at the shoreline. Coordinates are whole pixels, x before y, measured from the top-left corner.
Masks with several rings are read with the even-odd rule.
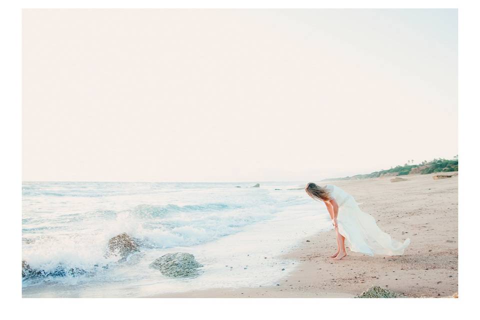
[[[310,182],[305,186],[305,191],[313,199],[323,201],[330,214],[338,244],[336,252],[330,256],[335,260],[346,256],[345,240],[352,251],[370,256],[400,255],[410,244],[410,239],[401,243],[380,230],[375,219],[363,212],[355,199],[339,187],[330,184],[319,186]]]

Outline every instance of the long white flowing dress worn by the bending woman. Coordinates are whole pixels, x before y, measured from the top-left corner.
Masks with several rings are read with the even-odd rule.
[[[353,196],[336,185],[326,185],[330,197],[338,203],[338,232],[345,237],[345,245],[352,251],[367,255],[401,255],[410,244],[407,238],[403,243],[383,232],[375,219],[363,212]]]

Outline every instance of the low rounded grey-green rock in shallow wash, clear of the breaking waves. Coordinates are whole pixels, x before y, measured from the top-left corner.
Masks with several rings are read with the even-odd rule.
[[[150,267],[160,270],[161,274],[174,278],[193,277],[202,267],[193,254],[185,252],[167,253],[150,263]]]

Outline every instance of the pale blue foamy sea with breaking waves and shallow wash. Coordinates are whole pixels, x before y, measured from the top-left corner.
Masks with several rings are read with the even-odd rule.
[[[22,259],[86,274],[22,280],[25,297],[156,296],[215,287],[271,285],[297,261],[281,255],[330,228],[302,182],[23,182]],[[240,186],[240,187],[237,187]],[[126,261],[105,257],[121,232],[141,240]],[[172,279],[150,268],[168,252],[195,255],[200,275]]]

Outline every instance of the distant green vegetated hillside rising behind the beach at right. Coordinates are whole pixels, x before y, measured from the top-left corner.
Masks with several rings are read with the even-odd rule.
[[[413,162],[413,160],[411,161]],[[329,178],[323,181],[331,180],[355,180],[355,179],[368,179],[377,178],[380,176],[395,176],[395,175],[407,175],[407,174],[428,174],[432,172],[449,172],[458,171],[458,156],[455,156],[451,160],[447,159],[433,159],[431,161],[423,161],[418,164],[405,163],[404,165],[397,165],[387,170],[380,170],[366,174],[356,174],[352,176],[345,176],[341,178]]]

